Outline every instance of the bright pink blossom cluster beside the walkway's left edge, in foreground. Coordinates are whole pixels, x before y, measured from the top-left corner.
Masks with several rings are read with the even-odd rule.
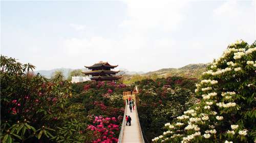
[[[94,132],[94,135],[97,136],[93,143],[101,142],[101,143],[110,143],[110,142],[118,142],[118,131],[119,126],[116,125],[115,117],[102,117],[95,116],[95,120],[93,121],[94,125],[89,125],[88,130]]]

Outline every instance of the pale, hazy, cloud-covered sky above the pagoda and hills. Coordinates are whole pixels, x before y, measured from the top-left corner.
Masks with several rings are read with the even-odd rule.
[[[208,63],[256,40],[256,1],[1,1],[1,54],[36,70]]]

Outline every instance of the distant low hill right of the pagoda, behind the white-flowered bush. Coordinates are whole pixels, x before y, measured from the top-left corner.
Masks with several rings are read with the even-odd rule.
[[[169,76],[181,76],[187,78],[199,78],[201,74],[206,70],[206,67],[209,63],[203,64],[188,64],[181,68],[162,68],[156,71],[150,71],[143,75],[150,76],[152,74],[156,74],[162,77],[169,77]]]

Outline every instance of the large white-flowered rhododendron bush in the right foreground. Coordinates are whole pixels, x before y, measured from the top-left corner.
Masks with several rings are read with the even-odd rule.
[[[203,73],[202,100],[153,142],[256,142],[256,42],[230,44]]]

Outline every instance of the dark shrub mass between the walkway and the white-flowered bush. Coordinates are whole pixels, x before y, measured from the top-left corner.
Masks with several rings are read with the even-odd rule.
[[[146,79],[136,82],[139,94],[137,97],[138,115],[143,134],[147,140],[159,135],[161,127],[180,115],[190,104],[194,103],[194,90],[196,79],[182,77]]]

